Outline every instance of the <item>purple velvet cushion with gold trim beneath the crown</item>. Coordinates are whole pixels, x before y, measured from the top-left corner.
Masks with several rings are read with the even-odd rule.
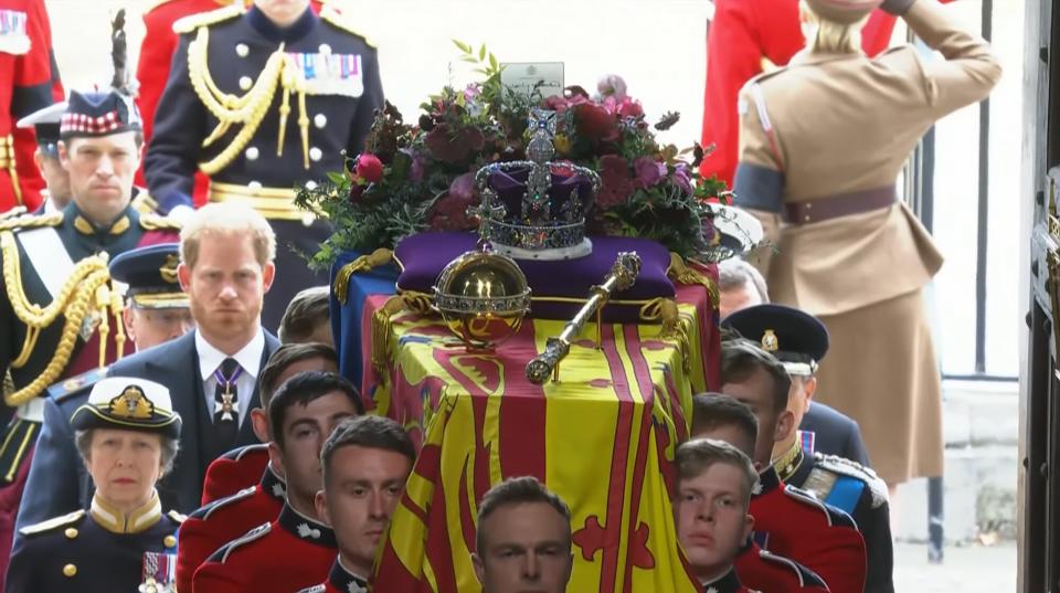
[[[457,255],[475,248],[477,235],[470,233],[420,233],[402,241],[394,250],[401,267],[398,290],[433,294],[434,283]],[[543,319],[570,319],[585,304],[590,287],[604,280],[619,252],[635,251],[640,256],[640,275],[633,288],[612,296],[604,308],[608,322],[636,322],[640,307],[657,297],[674,298],[674,283],[666,276],[670,253],[646,239],[594,236],[592,255],[577,260],[541,262],[520,260],[533,303],[530,316]]]

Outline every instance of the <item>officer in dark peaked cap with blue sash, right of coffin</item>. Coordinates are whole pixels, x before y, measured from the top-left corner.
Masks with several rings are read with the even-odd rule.
[[[784,305],[755,305],[725,318],[724,325],[760,342],[792,378],[788,410],[799,425],[813,392],[814,373],[828,352],[828,330],[816,317]],[[774,447],[774,466],[784,484],[813,493],[819,500],[850,515],[865,538],[867,593],[892,592],[893,550],[887,485],[871,469],[834,455],[806,453],[805,440],[793,432]]]

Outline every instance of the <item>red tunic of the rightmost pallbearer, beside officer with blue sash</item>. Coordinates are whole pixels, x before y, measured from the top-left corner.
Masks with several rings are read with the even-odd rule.
[[[785,486],[772,466],[760,484],[750,513],[762,547],[814,571],[831,591],[863,591],[865,540],[850,516]]]

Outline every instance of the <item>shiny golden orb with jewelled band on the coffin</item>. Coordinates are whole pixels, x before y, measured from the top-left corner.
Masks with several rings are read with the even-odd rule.
[[[466,347],[488,350],[519,331],[530,310],[530,287],[515,260],[486,245],[445,266],[434,286],[434,306]]]

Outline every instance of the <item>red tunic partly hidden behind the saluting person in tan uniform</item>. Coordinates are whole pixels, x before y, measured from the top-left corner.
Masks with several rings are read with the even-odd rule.
[[[876,55],[888,47],[894,17],[877,10],[861,31],[861,47]],[[806,45],[798,0],[716,0],[707,40],[707,87],[702,145],[714,145],[700,172],[732,187],[740,118],[736,97],[744,83],[762,73],[762,60],[783,66]]]

